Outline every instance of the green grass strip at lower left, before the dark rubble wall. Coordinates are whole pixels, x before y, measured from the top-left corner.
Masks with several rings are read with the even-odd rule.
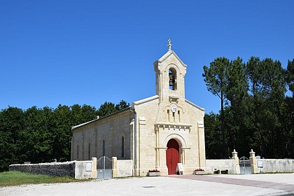
[[[41,174],[27,174],[22,172],[0,173],[0,187],[38,183],[71,183],[79,181],[90,181],[90,179],[77,180],[73,179],[71,176],[47,176]]]

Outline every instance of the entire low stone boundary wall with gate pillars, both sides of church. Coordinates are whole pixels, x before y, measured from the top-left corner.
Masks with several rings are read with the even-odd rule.
[[[132,160],[117,160],[116,157],[112,160],[113,178],[133,176]],[[249,160],[252,174],[294,172],[293,159],[258,159],[251,149]],[[97,158],[85,161],[9,165],[9,171],[50,176],[67,175],[75,179],[97,179]],[[234,150],[232,158],[228,160],[206,160],[204,174],[240,174],[237,152]]]

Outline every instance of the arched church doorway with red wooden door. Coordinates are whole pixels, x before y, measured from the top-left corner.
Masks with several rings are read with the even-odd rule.
[[[169,175],[176,174],[176,166],[180,160],[179,143],[175,139],[170,139],[167,142],[167,169]]]

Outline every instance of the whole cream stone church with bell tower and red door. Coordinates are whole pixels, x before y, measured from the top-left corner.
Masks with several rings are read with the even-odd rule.
[[[185,97],[187,65],[172,50],[153,63],[153,97],[132,107],[72,127],[71,160],[116,157],[132,160],[133,176],[158,169],[185,174],[205,168],[204,109]]]

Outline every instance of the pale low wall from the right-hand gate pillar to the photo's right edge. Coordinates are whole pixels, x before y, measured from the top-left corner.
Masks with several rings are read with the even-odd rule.
[[[294,160],[292,159],[260,159],[263,167],[258,167],[258,173],[270,172],[294,172]]]

